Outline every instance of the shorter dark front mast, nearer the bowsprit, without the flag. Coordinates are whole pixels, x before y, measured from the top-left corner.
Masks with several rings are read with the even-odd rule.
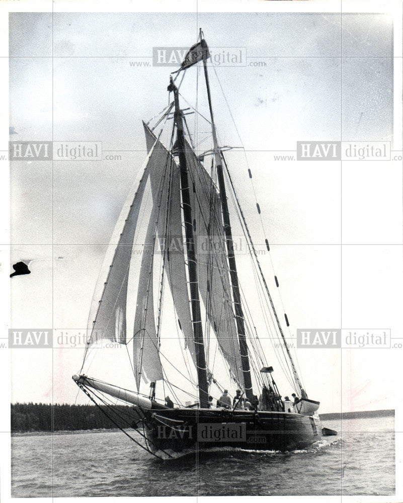
[[[199,385],[199,400],[201,408],[208,408],[209,401],[208,401],[207,365],[206,365],[206,355],[204,352],[203,327],[200,313],[199,287],[197,280],[197,262],[195,253],[195,240],[193,236],[193,223],[192,223],[193,219],[192,219],[192,209],[190,205],[188,169],[186,165],[186,155],[185,155],[183,116],[182,111],[179,107],[179,91],[174,84],[172,76],[170,85],[168,87],[168,91],[174,92],[174,99],[175,99],[174,119],[177,128],[176,146],[178,148],[179,166],[181,175],[181,192],[182,192],[183,216],[185,224],[186,250],[188,256],[188,271],[189,271],[189,284],[190,284],[189,288],[190,288],[190,301],[191,301],[192,318],[193,318],[193,337],[195,341],[195,352],[196,352],[197,381]]]

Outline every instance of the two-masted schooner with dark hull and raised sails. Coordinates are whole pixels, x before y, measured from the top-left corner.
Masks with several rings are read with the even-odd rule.
[[[285,451],[309,446],[322,431],[319,402],[309,399],[302,387],[234,189],[224,156],[229,147],[218,141],[209,58],[200,30],[198,42],[170,76],[169,105],[143,122],[148,155],[116,224],[91,306],[83,367],[73,376],[128,437],[156,457],[196,444],[202,449],[218,445]],[[199,62],[209,110],[208,119],[201,117],[210,128],[211,142],[201,154],[186,121],[187,115],[199,112],[181,108],[176,83]],[[257,209],[260,213],[258,204]],[[280,365],[288,369],[289,382],[300,397],[295,403],[280,395],[239,281],[234,219],[254,267],[260,315],[267,323],[262,339],[270,334],[281,342]],[[139,235],[140,258],[134,253]],[[270,250],[267,239],[266,246]],[[277,277],[275,282],[278,287]],[[174,306],[171,325],[164,323],[167,295]],[[130,348],[136,390],[84,374],[100,333],[103,340]],[[181,350],[172,361],[164,348],[174,344]],[[216,370],[218,360],[221,369]],[[177,381],[167,366],[177,369],[171,372]],[[232,406],[220,401],[221,393],[235,386]],[[118,403],[129,404],[130,413]]]

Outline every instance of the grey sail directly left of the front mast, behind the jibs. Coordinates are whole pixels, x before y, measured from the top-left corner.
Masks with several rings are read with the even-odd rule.
[[[155,143],[156,137],[145,123],[144,131],[148,149]],[[161,207],[168,208],[168,211],[166,212],[167,217],[165,219],[158,219],[157,233],[160,247],[162,249],[166,249],[165,266],[179,324],[186,345],[192,356],[192,360],[196,365],[196,351],[193,338],[192,318],[190,314],[182,237],[179,166],[160,141],[156,142],[154,148],[158,151],[165,152],[165,155],[169,156],[170,162],[172,163],[171,180],[167,178],[162,182],[157,173],[150,173],[151,191],[153,198],[160,198]]]

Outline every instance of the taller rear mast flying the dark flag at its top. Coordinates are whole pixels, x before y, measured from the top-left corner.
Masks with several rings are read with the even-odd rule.
[[[202,38],[202,31],[201,30],[200,30],[200,40],[201,40],[202,46],[204,46],[204,48],[207,49],[207,44],[206,44],[205,40]],[[239,281],[238,281],[238,274],[236,272],[236,261],[235,261],[234,251],[233,251],[232,230],[231,230],[231,223],[229,220],[228,202],[227,202],[227,196],[226,196],[226,190],[225,190],[224,175],[223,175],[223,170],[222,170],[222,161],[221,161],[220,149],[218,147],[217,133],[216,133],[215,124],[214,124],[213,108],[211,105],[210,84],[209,84],[208,72],[207,72],[207,55],[208,55],[208,50],[205,50],[204,54],[203,54],[204,76],[206,79],[208,106],[210,109],[211,129],[212,129],[212,134],[213,134],[213,146],[214,146],[214,158],[215,158],[215,164],[216,164],[216,169],[217,169],[218,188],[220,190],[222,217],[223,217],[224,232],[225,232],[226,244],[227,244],[229,274],[231,277],[231,286],[232,286],[232,296],[233,296],[234,309],[235,309],[236,328],[238,331],[240,361],[241,361],[241,365],[242,365],[242,371],[244,374],[245,393],[246,393],[247,398],[249,400],[252,400],[253,399],[253,389],[252,389],[251,367],[249,364],[248,345],[247,345],[246,336],[245,336],[245,320],[244,320],[244,313],[242,310],[242,306],[240,303]]]

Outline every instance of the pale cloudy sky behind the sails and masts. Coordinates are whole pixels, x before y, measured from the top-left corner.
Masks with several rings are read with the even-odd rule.
[[[46,259],[12,279],[11,326],[87,326],[106,247],[146,155],[141,120],[167,105],[175,68],[152,66],[152,47],[190,47],[199,26],[213,48],[246,48],[246,66],[215,68],[220,83],[210,69],[214,114],[221,144],[245,147],[246,156],[233,150],[227,159],[254,241],[271,244],[271,260],[265,254],[261,263],[277,306],[279,278],[291,333],[384,327],[401,337],[401,169],[274,158],[292,154],[275,151],[295,150],[299,140],[386,140],[401,149],[392,127],[392,21],[365,14],[343,15],[342,25],[338,14],[61,13],[53,24],[47,13],[11,14],[10,126],[18,139],[102,141],[104,153],[122,156],[11,162],[12,264]],[[191,68],[181,92],[193,103],[196,81]],[[202,90],[199,98],[207,114]],[[52,256],[64,259],[52,268]],[[256,303],[244,260],[240,280]],[[85,402],[71,381],[83,353],[13,350],[12,400]],[[397,350],[303,349],[298,361],[322,412],[394,406]],[[115,384],[119,365],[108,369]]]

